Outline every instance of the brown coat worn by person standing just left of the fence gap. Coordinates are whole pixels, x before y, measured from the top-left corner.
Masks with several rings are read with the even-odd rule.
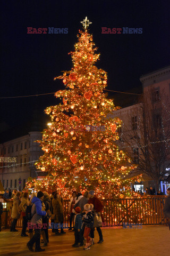
[[[63,214],[63,205],[61,202],[61,198],[53,198],[52,200],[53,205],[53,213],[55,214],[55,223],[64,221],[64,214]]]

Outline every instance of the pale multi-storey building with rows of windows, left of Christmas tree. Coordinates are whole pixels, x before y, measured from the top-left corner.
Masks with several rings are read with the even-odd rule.
[[[34,164],[43,151],[35,141],[41,138],[41,132],[29,132],[0,144],[0,156],[5,157],[5,162],[0,162],[0,179],[4,188],[22,190],[29,177],[37,177]],[[13,157],[16,162],[9,162]]]

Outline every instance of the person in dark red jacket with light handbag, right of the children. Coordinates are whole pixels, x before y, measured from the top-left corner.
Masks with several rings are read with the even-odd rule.
[[[98,231],[99,234],[99,241],[97,242],[98,244],[101,244],[104,242],[103,240],[103,234],[101,231],[102,227],[102,219],[101,219],[101,211],[103,210],[103,204],[101,203],[100,199],[95,195],[94,190],[89,191],[89,201],[88,204],[93,204],[94,205],[94,211],[95,211],[95,218],[94,218],[94,228],[91,229],[90,231],[90,237],[92,238],[92,243],[94,244],[94,231],[95,228]]]

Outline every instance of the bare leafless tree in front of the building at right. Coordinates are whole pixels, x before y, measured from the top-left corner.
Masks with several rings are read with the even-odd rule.
[[[156,192],[170,160],[169,101],[164,93],[160,95],[150,88],[140,103],[131,106],[128,112],[122,109],[119,115],[123,121],[119,146],[137,164],[138,173],[155,181]]]

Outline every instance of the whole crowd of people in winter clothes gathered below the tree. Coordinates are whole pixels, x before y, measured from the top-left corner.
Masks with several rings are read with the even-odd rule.
[[[6,194],[9,191],[5,191]],[[5,194],[3,194],[4,197]],[[17,232],[16,223],[22,218],[21,236],[29,236],[27,243],[28,249],[33,252],[35,244],[35,252],[45,251],[41,248],[41,236],[44,246],[49,243],[49,219],[52,232],[56,235],[66,234],[64,231],[64,213],[63,198],[54,191],[50,196],[47,192],[38,191],[31,195],[27,191],[20,192],[13,190],[11,197],[13,198],[13,207],[11,213],[11,232]],[[1,210],[1,209],[0,209]],[[99,234],[98,243],[103,243],[103,234],[100,229],[102,226],[103,204],[95,195],[94,190],[85,191],[83,194],[77,191],[72,192],[68,211],[70,215],[69,231],[74,230],[75,241],[73,247],[83,246],[83,250],[89,250],[94,242],[94,231],[97,228]],[[28,232],[28,233],[27,233]],[[86,244],[84,244],[86,241]]]

